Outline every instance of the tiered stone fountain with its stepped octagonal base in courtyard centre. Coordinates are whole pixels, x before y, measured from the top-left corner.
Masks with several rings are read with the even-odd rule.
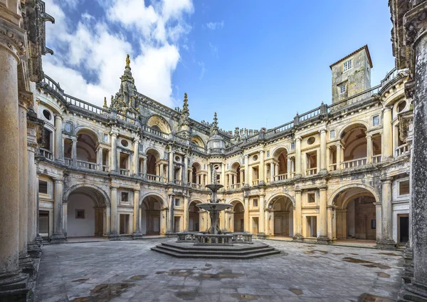
[[[216,173],[213,173],[216,179]],[[216,192],[221,184],[206,185],[212,191],[211,202],[197,204],[200,209],[209,212],[211,227],[208,231],[182,231],[172,239],[152,247],[153,251],[178,258],[209,259],[251,259],[260,256],[279,254],[280,251],[260,241],[252,241],[247,232],[221,231],[218,227],[219,212],[233,207],[232,204],[219,203]]]

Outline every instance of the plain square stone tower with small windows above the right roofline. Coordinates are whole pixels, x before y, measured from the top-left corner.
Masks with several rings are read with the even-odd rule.
[[[371,88],[372,61],[367,45],[333,63],[332,103]]]

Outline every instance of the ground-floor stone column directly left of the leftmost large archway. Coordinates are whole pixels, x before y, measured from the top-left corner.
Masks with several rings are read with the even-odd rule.
[[[55,178],[53,187],[53,234],[51,236],[52,244],[65,243],[63,234],[63,179]]]

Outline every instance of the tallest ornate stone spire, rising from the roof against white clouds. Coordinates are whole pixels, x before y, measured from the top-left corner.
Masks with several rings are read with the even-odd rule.
[[[120,90],[112,99],[112,107],[115,110],[124,113],[134,113],[137,115],[137,88],[135,87],[135,79],[132,76],[130,68],[130,56],[126,56],[125,72],[120,77]]]

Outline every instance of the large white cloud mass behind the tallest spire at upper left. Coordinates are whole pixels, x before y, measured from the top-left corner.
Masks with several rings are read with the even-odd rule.
[[[58,80],[65,93],[102,105],[105,96],[109,100],[119,90],[129,53],[138,91],[173,106],[172,74],[180,58],[179,42],[191,31],[184,20],[194,11],[191,0],[149,6],[142,0],[101,2],[103,18],[84,12],[76,26],[69,26],[65,6],[59,0],[46,0],[46,11],[56,24],[46,28],[46,44],[55,56],[43,59],[45,73]],[[117,26],[121,30],[112,31]]]

